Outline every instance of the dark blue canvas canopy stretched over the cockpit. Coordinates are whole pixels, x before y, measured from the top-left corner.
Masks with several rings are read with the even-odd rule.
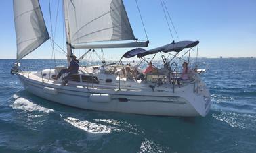
[[[137,49],[132,49],[131,51],[127,51],[127,53],[125,53],[123,57],[130,58],[137,55],[137,57],[140,58],[140,57],[144,57],[149,54],[155,54],[158,52],[164,52],[164,53],[172,52],[172,51],[180,52],[183,49],[194,47],[197,44],[199,44],[199,41],[180,41],[177,43],[172,42],[171,44],[166,44],[162,47],[157,47],[155,49],[150,49],[148,51],[142,48],[137,48]]]

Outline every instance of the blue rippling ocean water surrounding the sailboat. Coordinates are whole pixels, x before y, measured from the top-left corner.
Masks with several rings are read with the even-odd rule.
[[[213,104],[207,117],[75,109],[22,87],[0,60],[0,152],[255,152],[256,59],[199,59]],[[66,63],[56,61],[58,65]],[[54,61],[24,59],[30,71]]]

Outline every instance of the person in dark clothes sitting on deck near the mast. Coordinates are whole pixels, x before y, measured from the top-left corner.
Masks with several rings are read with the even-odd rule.
[[[55,80],[58,80],[58,78],[60,78],[60,76],[64,73],[77,73],[77,71],[79,70],[79,61],[77,60],[77,57],[74,54],[71,54],[70,57],[72,61],[70,61],[68,69],[62,69],[60,73],[58,73],[58,75],[54,77]],[[67,80],[68,76],[64,77],[64,79]]]

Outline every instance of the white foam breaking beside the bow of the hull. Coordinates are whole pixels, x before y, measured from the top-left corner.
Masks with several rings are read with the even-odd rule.
[[[30,112],[39,111],[43,113],[54,112],[54,109],[47,109],[43,106],[39,106],[38,104],[34,104],[33,102],[30,102],[26,98],[18,97],[16,94],[14,94],[14,98],[16,98],[16,100],[14,100],[14,103],[10,105],[13,109],[22,109],[24,111],[30,111]]]

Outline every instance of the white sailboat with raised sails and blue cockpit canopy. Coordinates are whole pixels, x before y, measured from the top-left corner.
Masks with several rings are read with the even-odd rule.
[[[73,73],[67,84],[63,84],[62,78],[52,79],[66,67],[22,71],[17,62],[12,73],[18,76],[28,92],[51,102],[95,111],[186,117],[207,115],[211,107],[210,93],[200,73],[196,71],[188,80],[178,82],[180,74],[173,61],[184,49],[190,53],[199,41],[171,42],[146,50],[142,47],[147,47],[149,42],[139,42],[135,38],[122,0],[63,0],[63,5],[68,63],[74,49],[133,49],[127,51],[118,63],[102,61],[102,65],[79,67],[78,73]],[[50,37],[38,0],[14,0],[14,21],[17,61],[20,61]],[[129,71],[125,67],[140,72],[141,62],[124,65],[123,59],[137,56],[150,63],[146,56],[160,53],[173,55],[170,60],[161,56],[163,69],[145,74],[144,80],[127,77]]]

